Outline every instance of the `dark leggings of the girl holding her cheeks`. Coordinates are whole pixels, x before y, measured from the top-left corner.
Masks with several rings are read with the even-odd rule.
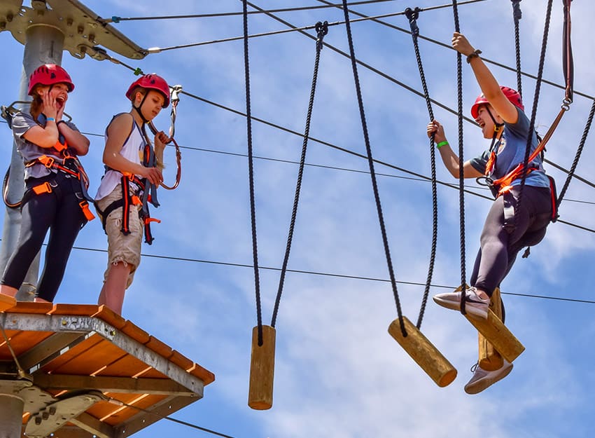
[[[22,206],[19,240],[1,281],[3,285],[15,289],[21,287],[49,229],[45,264],[35,294],[45,301],[54,301],[74,240],[87,222],[78,205],[80,199],[75,193],[78,180],[66,178],[59,172],[51,177],[27,179],[27,189],[50,180],[57,183],[57,187],[52,188],[52,193],[29,193],[29,200]]]

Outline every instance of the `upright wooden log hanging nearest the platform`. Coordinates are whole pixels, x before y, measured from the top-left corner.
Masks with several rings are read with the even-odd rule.
[[[275,329],[262,326],[262,345],[258,345],[258,326],[252,329],[252,355],[248,406],[252,409],[271,409],[273,405],[273,377],[275,369]]]

